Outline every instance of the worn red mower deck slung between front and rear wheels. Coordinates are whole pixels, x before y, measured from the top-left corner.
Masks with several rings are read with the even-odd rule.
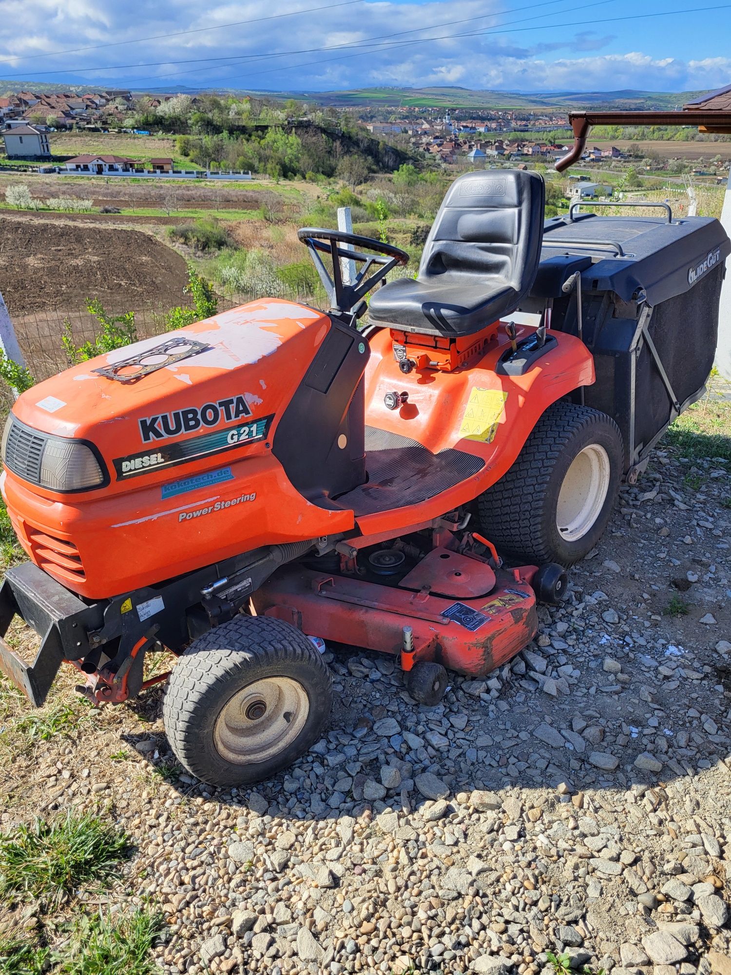
[[[445,567],[447,560],[458,568]],[[458,674],[484,677],[510,660],[538,628],[534,566],[493,572],[489,565],[435,549],[398,586],[283,567],[254,594],[260,615],[293,623],[327,642],[400,654],[404,671],[422,660]],[[462,582],[464,573],[471,573]],[[434,588],[481,595],[443,596]],[[412,648],[404,646],[411,628]]]

